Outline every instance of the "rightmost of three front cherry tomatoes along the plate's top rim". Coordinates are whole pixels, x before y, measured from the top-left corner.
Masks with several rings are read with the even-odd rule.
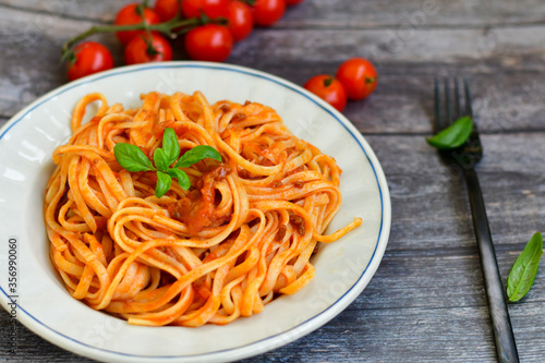
[[[231,33],[218,24],[198,26],[185,35],[185,51],[194,60],[222,62],[232,48]]]

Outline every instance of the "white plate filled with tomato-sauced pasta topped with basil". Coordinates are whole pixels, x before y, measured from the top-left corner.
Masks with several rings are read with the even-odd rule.
[[[0,150],[0,302],[99,361],[287,344],[364,290],[388,241],[387,182],[361,133],[247,68],[85,77],[14,116]]]

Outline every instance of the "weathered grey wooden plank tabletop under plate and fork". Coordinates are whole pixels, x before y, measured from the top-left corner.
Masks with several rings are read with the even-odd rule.
[[[126,1],[0,0],[0,123],[66,83],[61,45]],[[122,64],[111,35],[97,36]],[[424,137],[436,76],[470,80],[485,157],[477,166],[500,274],[545,226],[545,3],[541,0],[305,0],[235,45],[228,63],[300,85],[351,57],[378,87],[344,114],[374,148],[392,203],[384,259],[363,293],[320,329],[247,362],[494,362],[496,352],[463,181]],[[543,263],[542,263],[543,265]],[[522,362],[545,361],[545,275],[509,304]],[[0,327],[9,315],[0,312]],[[84,359],[25,327],[0,361]]]

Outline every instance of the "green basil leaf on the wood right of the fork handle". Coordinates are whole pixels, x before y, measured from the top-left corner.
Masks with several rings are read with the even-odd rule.
[[[509,301],[519,301],[530,291],[535,275],[537,275],[537,265],[542,254],[543,237],[541,232],[536,232],[517,257],[507,278],[507,298]]]

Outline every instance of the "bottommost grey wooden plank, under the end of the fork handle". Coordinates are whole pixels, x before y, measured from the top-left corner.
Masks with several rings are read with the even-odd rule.
[[[356,316],[346,311],[313,335],[258,359],[267,362],[496,362],[487,314],[485,307],[370,310]],[[543,344],[535,342],[545,332],[543,305],[513,305],[510,314],[521,362],[542,362]],[[356,327],[358,324],[361,326]],[[367,339],[370,336],[373,339]]]

